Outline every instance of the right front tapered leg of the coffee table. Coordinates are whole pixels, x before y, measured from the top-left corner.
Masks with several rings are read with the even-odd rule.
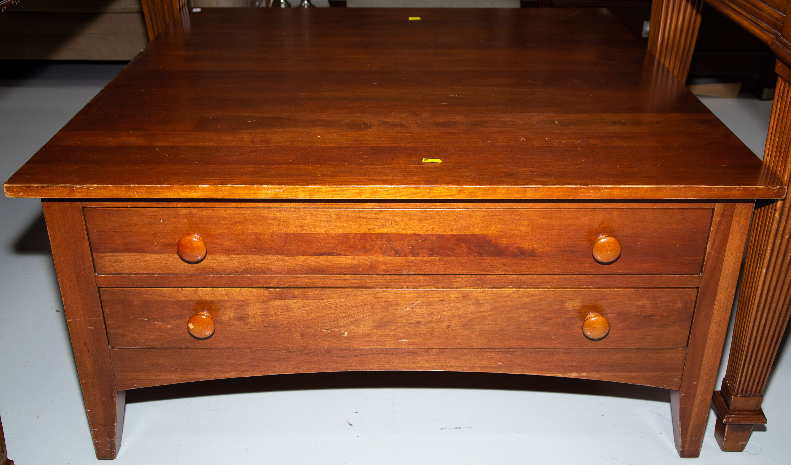
[[[679,456],[697,457],[739,278],[753,202],[717,202],[679,391],[671,393]]]

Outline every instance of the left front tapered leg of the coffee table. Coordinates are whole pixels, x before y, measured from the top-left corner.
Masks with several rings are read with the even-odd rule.
[[[42,203],[93,448],[97,459],[115,459],[123,429],[124,392],[115,390],[82,207],[79,202]]]

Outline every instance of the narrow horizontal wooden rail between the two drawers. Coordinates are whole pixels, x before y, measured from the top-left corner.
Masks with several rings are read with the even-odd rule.
[[[97,274],[99,287],[698,287],[699,274]]]

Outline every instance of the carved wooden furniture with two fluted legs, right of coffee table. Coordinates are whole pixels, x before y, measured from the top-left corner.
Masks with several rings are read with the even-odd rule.
[[[767,43],[778,56],[778,83],[763,162],[787,186],[791,178],[791,21],[788,0],[707,0]],[[655,0],[649,50],[683,79],[700,24],[701,0]],[[657,32],[654,35],[654,32]],[[761,410],[766,380],[791,314],[791,202],[759,201],[752,222],[728,372],[713,397],[716,437],[726,451],[742,451]]]

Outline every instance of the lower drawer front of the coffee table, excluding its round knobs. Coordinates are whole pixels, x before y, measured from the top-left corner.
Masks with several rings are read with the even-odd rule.
[[[696,289],[101,289],[113,347],[687,346]],[[198,339],[187,320],[214,319]],[[591,312],[611,325],[590,340]]]

